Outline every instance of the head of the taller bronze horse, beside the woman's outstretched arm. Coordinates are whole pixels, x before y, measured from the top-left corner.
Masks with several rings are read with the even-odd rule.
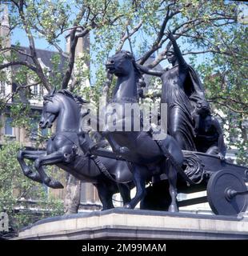
[[[130,74],[130,70],[135,66],[134,55],[129,51],[121,50],[106,61],[106,69],[110,74],[125,76]]]

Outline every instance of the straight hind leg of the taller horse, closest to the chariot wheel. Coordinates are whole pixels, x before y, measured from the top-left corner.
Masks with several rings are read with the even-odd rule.
[[[168,160],[169,161],[169,160]],[[177,171],[175,170],[174,166],[172,166],[169,162],[166,168],[166,175],[169,182],[169,192],[170,192],[170,198],[171,203],[169,206],[170,212],[177,212],[178,211],[178,204],[177,204]]]

